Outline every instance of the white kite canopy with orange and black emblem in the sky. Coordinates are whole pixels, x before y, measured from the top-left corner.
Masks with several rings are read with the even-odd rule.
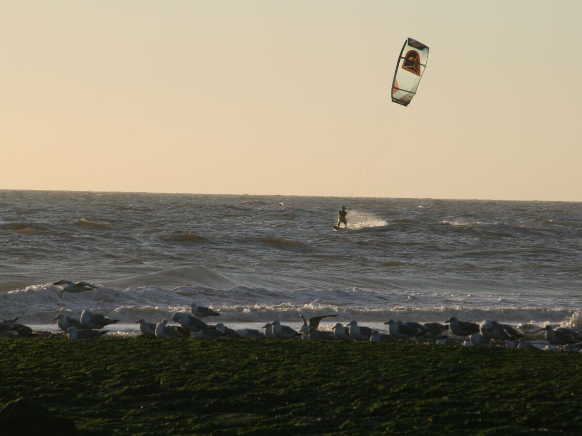
[[[392,82],[392,101],[399,105],[408,106],[416,94],[416,88],[423,77],[427,66],[428,47],[422,42],[406,38]]]

